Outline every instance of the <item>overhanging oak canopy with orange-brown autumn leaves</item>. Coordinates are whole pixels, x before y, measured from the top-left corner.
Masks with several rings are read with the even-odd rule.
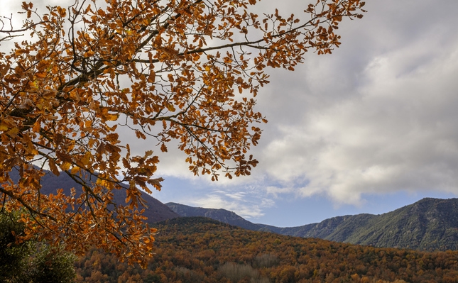
[[[1,18],[0,44],[14,47],[0,50],[0,208],[28,211],[24,239],[144,263],[155,230],[143,223],[139,189],[163,180],[153,150],[175,140],[194,174],[249,175],[267,67],[294,70],[309,50],[331,53],[339,23],[361,18],[364,2],[317,0],[299,16],[260,16],[256,0],[105,2],[46,13],[23,2],[23,26]],[[151,148],[131,154],[119,131]],[[83,194],[40,194],[45,168]],[[113,189],[126,191],[126,204],[113,203]]]

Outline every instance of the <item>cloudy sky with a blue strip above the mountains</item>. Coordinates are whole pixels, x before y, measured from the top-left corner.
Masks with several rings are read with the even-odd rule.
[[[307,3],[258,5],[288,15]],[[310,52],[294,72],[268,70],[256,99],[269,122],[251,150],[259,161],[251,176],[195,177],[169,148],[153,196],[282,227],[457,197],[458,1],[369,0],[365,9],[342,23],[332,55]]]

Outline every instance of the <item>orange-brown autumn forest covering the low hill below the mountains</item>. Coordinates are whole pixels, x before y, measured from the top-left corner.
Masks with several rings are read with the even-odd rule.
[[[156,228],[156,255],[147,270],[94,249],[77,262],[79,282],[458,282],[458,252],[333,243],[199,217]]]

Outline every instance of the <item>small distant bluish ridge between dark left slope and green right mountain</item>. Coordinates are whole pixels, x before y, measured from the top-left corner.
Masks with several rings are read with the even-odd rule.
[[[260,226],[251,223],[250,221],[241,218],[236,213],[232,211],[227,211],[226,209],[204,209],[202,207],[192,207],[192,206],[185,206],[184,204],[175,204],[174,202],[168,202],[165,204],[173,212],[177,213],[179,216],[182,217],[190,217],[190,216],[203,216],[207,218],[212,218],[216,221],[222,223],[228,223],[234,226],[239,226],[240,228],[258,231],[261,229]]]

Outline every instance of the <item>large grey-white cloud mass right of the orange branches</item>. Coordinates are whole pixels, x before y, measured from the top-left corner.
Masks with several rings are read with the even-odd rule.
[[[332,55],[273,70],[258,96],[269,120],[253,149],[261,163],[236,187],[347,204],[400,190],[458,194],[458,40],[450,36],[458,20],[435,1],[367,9],[361,23],[342,27]]]

